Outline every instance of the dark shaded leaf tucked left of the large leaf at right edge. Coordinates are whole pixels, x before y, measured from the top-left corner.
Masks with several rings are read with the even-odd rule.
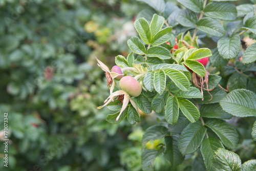
[[[222,110],[219,103],[203,104],[200,107],[200,114],[206,118],[230,119],[232,115]]]

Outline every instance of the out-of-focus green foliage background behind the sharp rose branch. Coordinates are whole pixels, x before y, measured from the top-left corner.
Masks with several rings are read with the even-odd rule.
[[[127,56],[134,19],[145,9],[135,0],[0,0],[0,140],[4,113],[10,139],[8,168],[1,141],[1,171],[141,170],[141,138],[157,115],[108,123],[111,112],[96,109],[109,90],[94,57],[111,68],[115,56]],[[248,153],[241,147],[240,156]],[[166,165],[155,161],[156,170]]]

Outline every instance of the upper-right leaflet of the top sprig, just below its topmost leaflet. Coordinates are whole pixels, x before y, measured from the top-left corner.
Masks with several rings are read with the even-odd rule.
[[[156,35],[152,38],[152,46],[157,46],[165,43],[170,38],[172,38],[172,29],[173,27],[166,27],[163,30],[156,33]]]

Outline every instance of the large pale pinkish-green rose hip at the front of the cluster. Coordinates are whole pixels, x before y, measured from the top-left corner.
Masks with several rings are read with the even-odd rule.
[[[132,76],[124,76],[119,81],[120,88],[128,93],[130,96],[137,97],[141,94],[142,88],[134,77]]]

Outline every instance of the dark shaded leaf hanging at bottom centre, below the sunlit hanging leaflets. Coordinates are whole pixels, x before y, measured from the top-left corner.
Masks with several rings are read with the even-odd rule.
[[[179,151],[177,146],[178,136],[173,135],[172,137],[164,137],[165,152],[164,158],[170,163],[172,168],[180,165],[184,161],[184,156]]]

